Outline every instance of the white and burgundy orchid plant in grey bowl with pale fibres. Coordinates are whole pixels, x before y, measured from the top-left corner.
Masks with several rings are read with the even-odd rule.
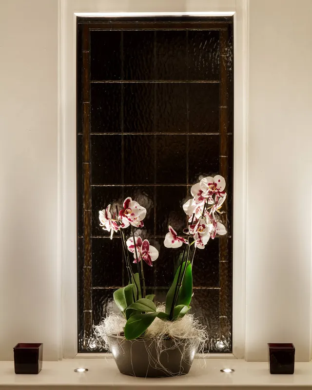
[[[183,205],[187,227],[178,235],[169,226],[164,246],[182,247],[182,251],[162,304],[154,302],[154,294],[146,294],[144,278],[144,267],[153,266],[158,251],[135,232],[144,227],[146,209],[127,197],[122,207],[108,205],[99,211],[100,226],[111,233],[111,238],[114,232],[120,234],[129,283],[114,292],[121,315],[111,313],[94,329],[98,340],[112,352],[121,373],[144,377],[186,374],[195,353],[203,349],[207,332],[189,313],[192,267],[196,250],[204,249],[217,234],[226,234],[220,220],[224,190],[222,176],[203,178],[191,188],[193,197]]]

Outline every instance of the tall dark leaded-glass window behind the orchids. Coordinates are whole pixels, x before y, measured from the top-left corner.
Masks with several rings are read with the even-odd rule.
[[[218,173],[228,235],[196,252],[192,310],[207,350],[231,352],[233,18],[78,18],[77,42],[78,351],[102,351],[93,324],[128,282],[98,211],[126,196],[147,208],[141,236],[160,249],[147,286],[161,302],[178,255],[162,245],[168,224],[185,227],[191,186]]]

